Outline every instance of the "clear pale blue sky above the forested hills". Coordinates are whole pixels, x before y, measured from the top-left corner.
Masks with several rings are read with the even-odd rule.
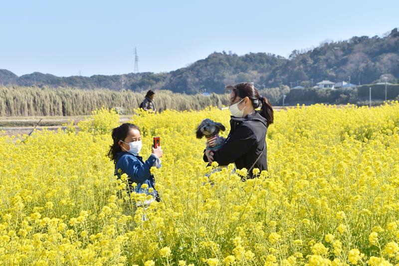
[[[213,51],[285,57],[399,26],[398,0],[0,2],[0,69],[58,76],[184,67]]]

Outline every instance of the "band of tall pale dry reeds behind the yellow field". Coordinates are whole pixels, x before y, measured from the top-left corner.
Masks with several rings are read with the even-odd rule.
[[[139,107],[144,96],[145,93],[108,89],[0,86],[0,116],[87,115],[102,106],[130,114]],[[200,110],[207,106],[221,107],[226,104],[228,98],[223,94],[204,96],[156,91],[155,106],[159,111],[167,108]]]

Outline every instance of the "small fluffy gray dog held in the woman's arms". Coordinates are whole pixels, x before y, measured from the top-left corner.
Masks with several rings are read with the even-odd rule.
[[[221,123],[206,118],[197,128],[197,138],[205,137],[207,139],[206,149],[217,151],[225,141],[225,138],[219,137],[219,132],[224,130],[226,128]]]

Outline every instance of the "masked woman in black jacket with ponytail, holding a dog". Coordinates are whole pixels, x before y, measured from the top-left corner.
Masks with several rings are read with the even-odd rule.
[[[266,131],[273,123],[273,108],[269,100],[259,95],[251,83],[227,86],[230,92],[230,133],[216,152],[205,150],[203,160],[219,165],[235,163],[237,169],[267,170]],[[255,108],[261,106],[260,111]]]

